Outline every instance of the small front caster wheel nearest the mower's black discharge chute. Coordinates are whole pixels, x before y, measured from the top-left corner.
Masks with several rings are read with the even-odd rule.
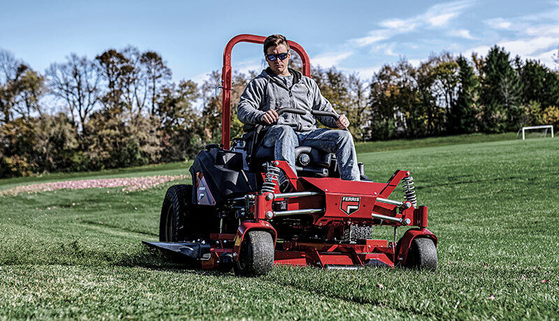
[[[233,264],[239,276],[260,276],[274,264],[274,239],[267,231],[249,230],[242,241],[239,260]]]

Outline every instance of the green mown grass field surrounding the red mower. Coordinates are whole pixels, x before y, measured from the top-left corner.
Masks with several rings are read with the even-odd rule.
[[[358,158],[375,181],[412,171],[440,240],[434,273],[277,267],[238,278],[184,269],[140,244],[157,239],[173,183],[22,194],[0,197],[0,320],[558,318],[559,140],[424,143]],[[186,170],[175,163],[70,178]],[[0,188],[30,182],[3,180]],[[400,188],[391,198],[402,198]],[[391,232],[374,230],[379,238]]]

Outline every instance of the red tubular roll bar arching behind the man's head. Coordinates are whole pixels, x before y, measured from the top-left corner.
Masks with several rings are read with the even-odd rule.
[[[237,43],[264,43],[266,37],[254,36],[249,34],[242,34],[234,36],[229,40],[223,52],[223,69],[222,69],[222,85],[223,85],[223,110],[222,110],[222,144],[224,149],[229,149],[229,140],[231,135],[231,51],[233,46]],[[289,47],[301,58],[303,61],[303,75],[310,77],[310,59],[307,52],[298,43],[287,40]]]

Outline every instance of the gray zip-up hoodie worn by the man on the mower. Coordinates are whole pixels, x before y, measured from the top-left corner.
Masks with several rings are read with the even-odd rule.
[[[303,76],[297,70],[289,68],[289,72],[293,75],[291,88],[287,88],[270,68],[262,70],[260,75],[247,84],[237,107],[237,117],[245,124],[243,128],[248,131],[254,128],[255,124],[264,124],[262,117],[267,110],[278,110],[282,107],[305,110],[307,114],[286,112],[279,116],[279,125],[289,125],[296,131],[307,131],[317,129],[318,119],[324,126],[337,128],[333,117],[315,118],[310,113],[311,110],[335,112],[331,103],[320,94],[317,82]]]

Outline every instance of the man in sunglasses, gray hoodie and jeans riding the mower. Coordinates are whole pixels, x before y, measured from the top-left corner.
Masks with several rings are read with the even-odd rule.
[[[358,181],[360,173],[349,121],[344,115],[333,117],[317,116],[311,110],[335,112],[331,103],[321,95],[314,80],[299,71],[288,68],[289,44],[282,35],[272,35],[264,41],[264,55],[268,68],[254,78],[242,93],[237,107],[237,116],[245,124],[245,130],[256,124],[272,125],[263,137],[266,147],[274,147],[277,160],[286,160],[295,172],[295,147],[305,145],[334,153],[342,179]],[[278,117],[276,110],[282,107],[305,110],[307,114],[283,113]],[[317,119],[324,126],[339,128],[317,128]],[[276,123],[277,124],[274,124]]]

